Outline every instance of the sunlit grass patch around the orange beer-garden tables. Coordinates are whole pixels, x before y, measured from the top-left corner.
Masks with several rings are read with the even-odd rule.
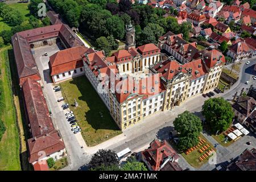
[[[210,148],[213,148],[213,145],[201,134],[200,137],[202,139],[204,139],[206,141],[206,143],[209,144]],[[203,147],[206,143],[204,143],[201,147]],[[187,162],[195,168],[199,168],[201,167],[204,163],[208,162],[208,159],[203,160],[202,162],[200,161],[200,156],[203,155],[205,152],[203,152],[202,154],[199,152],[199,149],[201,148],[197,148],[197,150],[192,151],[190,154],[185,154],[185,152],[181,153],[181,155],[183,156],[183,158],[185,158],[185,160],[187,160]]]

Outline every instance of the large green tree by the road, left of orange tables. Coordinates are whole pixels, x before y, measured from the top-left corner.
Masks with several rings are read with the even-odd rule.
[[[179,133],[178,147],[180,150],[195,146],[199,142],[198,137],[203,130],[200,118],[189,111],[184,111],[175,118],[174,128]]]

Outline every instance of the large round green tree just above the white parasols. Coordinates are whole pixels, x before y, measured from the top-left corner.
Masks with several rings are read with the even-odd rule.
[[[202,114],[213,133],[228,129],[234,117],[231,105],[222,97],[209,98],[205,101]]]

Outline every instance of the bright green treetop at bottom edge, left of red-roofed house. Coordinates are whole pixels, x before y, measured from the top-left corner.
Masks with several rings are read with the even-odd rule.
[[[138,162],[134,156],[127,158],[127,162],[121,167],[122,171],[147,171],[144,163]]]

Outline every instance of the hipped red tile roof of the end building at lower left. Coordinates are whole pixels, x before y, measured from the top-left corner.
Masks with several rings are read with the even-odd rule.
[[[27,143],[30,154],[28,160],[30,163],[39,160],[42,158],[42,155],[48,156],[65,148],[65,144],[57,131],[39,138],[30,138],[27,140]]]

